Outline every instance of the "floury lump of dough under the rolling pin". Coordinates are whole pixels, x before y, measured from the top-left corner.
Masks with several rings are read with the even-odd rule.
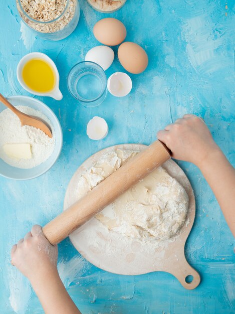
[[[78,181],[78,199],[117,170],[136,152],[116,149],[106,153]],[[95,217],[102,224],[135,239],[166,240],[183,226],[188,210],[184,188],[159,167],[108,205]]]

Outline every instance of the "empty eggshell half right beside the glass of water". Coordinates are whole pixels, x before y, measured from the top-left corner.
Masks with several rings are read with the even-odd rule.
[[[124,97],[132,89],[132,81],[128,74],[123,72],[113,73],[107,82],[107,88],[110,94],[116,97]]]

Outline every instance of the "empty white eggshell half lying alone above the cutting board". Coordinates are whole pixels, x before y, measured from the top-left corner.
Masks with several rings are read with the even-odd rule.
[[[95,116],[87,124],[87,135],[90,139],[103,139],[108,134],[109,127],[105,119]]]

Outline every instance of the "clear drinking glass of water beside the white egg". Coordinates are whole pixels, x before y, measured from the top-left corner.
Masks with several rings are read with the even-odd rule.
[[[98,106],[107,94],[105,72],[95,62],[79,62],[69,72],[68,88],[72,96],[85,107]]]

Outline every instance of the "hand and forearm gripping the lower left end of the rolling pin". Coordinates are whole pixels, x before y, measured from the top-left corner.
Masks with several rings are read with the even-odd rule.
[[[81,314],[57,271],[58,248],[35,225],[12,248],[12,263],[32,283],[46,314]]]

